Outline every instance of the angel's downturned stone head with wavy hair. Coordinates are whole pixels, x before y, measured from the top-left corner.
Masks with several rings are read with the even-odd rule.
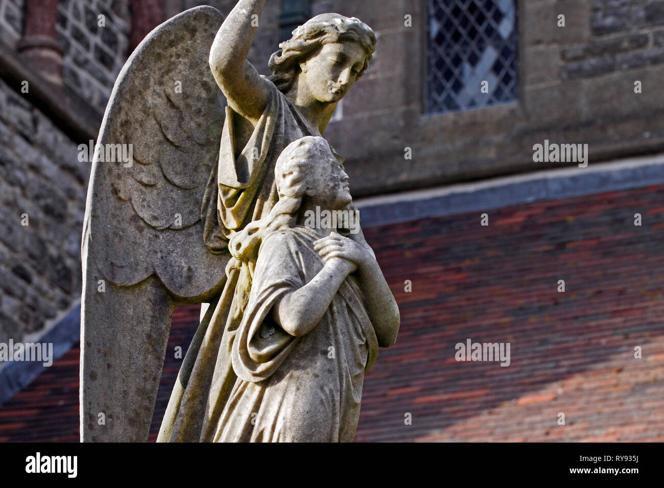
[[[365,73],[376,50],[371,28],[355,17],[323,13],[293,31],[270,58],[270,80],[289,93],[293,86],[319,102],[339,102]]]

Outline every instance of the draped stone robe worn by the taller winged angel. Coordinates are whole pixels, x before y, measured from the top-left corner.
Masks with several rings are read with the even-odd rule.
[[[204,199],[205,242],[210,248],[222,250],[232,232],[269,214],[279,199],[274,181],[277,158],[291,142],[319,135],[274,83],[262,80],[268,87],[268,104],[241,151],[234,134],[238,114],[226,107],[219,164],[210,175]],[[218,301],[210,303],[187,350],[158,442],[214,440],[237,379],[231,350],[250,287],[247,266],[228,270]]]

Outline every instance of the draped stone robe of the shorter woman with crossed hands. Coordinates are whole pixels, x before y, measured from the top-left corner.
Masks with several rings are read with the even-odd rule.
[[[321,321],[301,337],[272,319],[272,306],[313,279],[323,262],[311,228],[264,240],[232,348],[238,378],[216,426],[221,442],[351,442],[365,370],[378,340],[355,278],[347,276]]]

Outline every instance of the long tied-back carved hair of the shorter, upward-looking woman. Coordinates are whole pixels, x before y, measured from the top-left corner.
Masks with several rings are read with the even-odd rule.
[[[294,227],[297,210],[323,161],[334,159],[329,144],[323,137],[307,135],[291,142],[282,151],[274,167],[274,178],[279,201],[261,220],[250,222],[230,238],[228,248],[239,261],[254,260],[262,240],[275,230]]]

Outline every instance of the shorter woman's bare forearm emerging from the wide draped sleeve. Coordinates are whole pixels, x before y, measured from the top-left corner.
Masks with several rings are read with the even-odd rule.
[[[347,260],[327,260],[309,283],[286,293],[274,304],[272,317],[290,335],[309,333],[323,319],[343,280],[355,268]]]

